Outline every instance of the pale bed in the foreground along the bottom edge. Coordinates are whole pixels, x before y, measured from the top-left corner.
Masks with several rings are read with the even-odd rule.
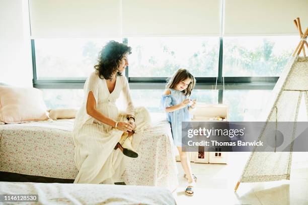
[[[176,204],[168,189],[150,186],[0,182],[0,194],[38,194],[38,204]]]

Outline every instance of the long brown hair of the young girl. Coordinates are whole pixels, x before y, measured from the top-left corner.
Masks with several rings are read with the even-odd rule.
[[[167,82],[166,88],[174,88],[180,81],[185,80],[186,78],[190,78],[191,82],[187,86],[185,90],[182,92],[184,95],[190,95],[192,89],[196,84],[195,77],[185,68],[180,68]]]

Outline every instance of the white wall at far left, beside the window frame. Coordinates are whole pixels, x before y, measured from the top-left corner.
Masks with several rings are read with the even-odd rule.
[[[27,0],[0,0],[0,82],[32,86]]]

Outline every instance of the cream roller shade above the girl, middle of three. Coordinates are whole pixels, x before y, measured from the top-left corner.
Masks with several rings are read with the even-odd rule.
[[[123,0],[123,36],[217,36],[220,0]]]

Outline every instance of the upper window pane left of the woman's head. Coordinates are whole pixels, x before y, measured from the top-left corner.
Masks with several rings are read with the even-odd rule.
[[[99,51],[110,40],[35,39],[38,79],[85,78],[94,71]]]

